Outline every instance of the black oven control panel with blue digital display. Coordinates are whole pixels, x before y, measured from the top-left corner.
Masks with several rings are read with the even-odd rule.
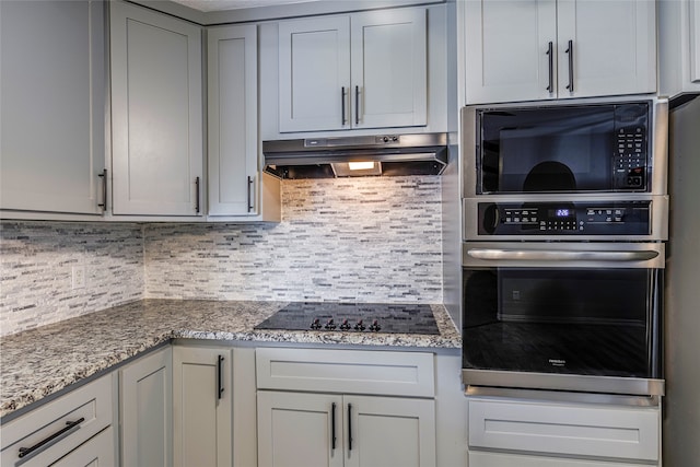
[[[651,201],[480,202],[479,235],[649,235]]]

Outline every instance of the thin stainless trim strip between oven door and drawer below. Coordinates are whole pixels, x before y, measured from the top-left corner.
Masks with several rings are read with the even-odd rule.
[[[509,399],[545,400],[555,402],[609,404],[615,406],[658,407],[661,396],[628,396],[620,394],[576,393],[544,389],[513,389],[490,386],[467,386],[465,396]]]

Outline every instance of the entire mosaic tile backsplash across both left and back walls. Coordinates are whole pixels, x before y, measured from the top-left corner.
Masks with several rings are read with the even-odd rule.
[[[143,297],[442,303],[440,183],[285,180],[279,224],[3,221],[0,336]]]

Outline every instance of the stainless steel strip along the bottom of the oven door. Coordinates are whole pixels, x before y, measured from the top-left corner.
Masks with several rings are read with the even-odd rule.
[[[465,345],[468,345],[468,342],[465,342]],[[639,377],[462,369],[462,382],[468,386],[572,390],[581,393],[621,394],[635,396],[665,395],[664,380]]]

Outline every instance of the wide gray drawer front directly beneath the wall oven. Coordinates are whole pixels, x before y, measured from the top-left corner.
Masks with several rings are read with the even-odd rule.
[[[469,447],[657,460],[660,411],[469,400]]]

